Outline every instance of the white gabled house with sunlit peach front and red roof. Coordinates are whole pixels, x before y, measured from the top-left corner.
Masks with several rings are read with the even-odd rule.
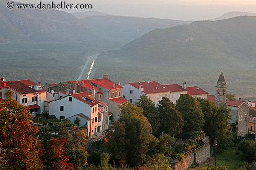
[[[73,123],[76,118],[80,120],[82,118],[80,126],[85,125],[88,129],[88,136],[94,136],[97,135],[98,129],[99,103],[99,101],[94,100],[94,94],[91,92],[69,94],[50,101],[49,114],[55,115],[59,119],[68,118]],[[102,123],[99,126],[102,126]]]

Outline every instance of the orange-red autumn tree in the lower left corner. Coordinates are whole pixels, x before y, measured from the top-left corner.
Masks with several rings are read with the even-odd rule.
[[[27,107],[12,98],[7,91],[0,103],[0,169],[41,170],[38,129],[30,124]]]

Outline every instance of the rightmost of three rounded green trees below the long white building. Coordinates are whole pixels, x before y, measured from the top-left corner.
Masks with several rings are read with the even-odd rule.
[[[181,94],[176,102],[176,109],[182,113],[184,132],[201,131],[204,125],[204,114],[195,98],[189,94]]]

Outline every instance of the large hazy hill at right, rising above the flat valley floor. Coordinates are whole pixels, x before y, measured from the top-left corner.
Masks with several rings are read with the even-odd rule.
[[[249,67],[256,63],[255,45],[256,17],[243,16],[155,29],[101,57],[178,68]]]

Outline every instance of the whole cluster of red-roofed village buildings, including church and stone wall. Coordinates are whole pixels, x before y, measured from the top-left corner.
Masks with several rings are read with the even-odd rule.
[[[8,97],[5,94],[8,90],[11,90],[13,92],[12,98],[26,106],[27,111],[31,113],[31,120],[33,120],[32,123],[35,126],[39,126],[35,118],[43,114],[54,116],[59,120],[69,120],[71,123],[76,124],[78,128],[85,129],[83,132],[88,136],[88,141],[94,143],[99,139],[104,139],[108,129],[115,128],[115,125],[113,127],[112,125],[120,120],[122,106],[128,107],[126,103],[138,105],[143,96],[145,96],[150,102],[154,103],[155,107],[161,107],[163,100],[169,100],[176,105],[177,102],[180,102],[180,96],[184,97],[184,94],[188,94],[193,98],[208,100],[217,107],[227,106],[230,110],[228,122],[230,125],[236,125],[238,136],[246,137],[248,134],[255,134],[255,102],[244,102],[241,101],[241,98],[238,100],[228,99],[228,87],[223,72],[221,72],[216,86],[212,88],[215,88],[216,91],[214,95],[210,95],[198,86],[187,86],[186,82],[179,85],[143,81],[130,82],[121,86],[120,83],[112,81],[109,75],[103,75],[103,78],[97,79],[69,80],[60,83],[46,82],[45,85],[42,85],[41,82],[32,82],[29,79],[6,80],[2,77],[0,81],[0,102]],[[187,105],[187,103],[179,103],[179,106],[181,105]],[[153,108],[154,106],[151,107]],[[150,107],[148,106],[148,108]],[[144,107],[144,109],[147,109],[147,107]],[[180,112],[182,113],[183,111],[180,110]],[[152,124],[153,132],[156,132],[154,122],[150,121],[150,117],[148,121]],[[168,126],[176,126],[175,124],[179,124],[179,122],[174,122],[173,125],[170,124]],[[49,124],[40,124],[40,126],[49,126]],[[162,134],[168,132],[163,129],[169,128],[168,126],[160,123],[160,129],[157,130],[156,135],[161,131]],[[188,126],[188,128],[192,127]],[[183,170],[194,163],[203,164],[211,157],[209,137],[204,138],[204,132],[202,131],[196,132],[202,133],[202,137],[196,139],[198,140],[198,148],[194,148],[195,144],[186,144],[189,147],[182,150],[186,151],[182,162],[177,161],[177,157],[176,160],[173,160],[172,151],[167,154],[173,169]],[[175,134],[175,131],[173,134]],[[167,142],[167,145],[173,144],[168,144]],[[182,147],[184,147],[183,145]]]

